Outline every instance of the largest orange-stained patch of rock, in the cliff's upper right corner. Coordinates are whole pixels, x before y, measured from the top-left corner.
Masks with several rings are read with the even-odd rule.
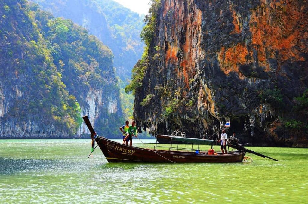
[[[270,69],[267,59],[276,58],[274,55],[277,51],[280,60],[278,64],[288,59],[305,60],[301,53],[306,52],[307,47],[294,47],[299,45],[300,39],[305,38],[308,15],[301,11],[298,1],[285,2],[277,8],[277,5],[271,2],[263,9],[254,10],[250,18],[253,47],[257,50],[257,60],[265,64],[266,71]]]

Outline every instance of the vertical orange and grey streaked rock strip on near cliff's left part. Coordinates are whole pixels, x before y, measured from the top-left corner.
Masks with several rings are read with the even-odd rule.
[[[173,14],[174,22],[164,27],[164,37],[167,44],[165,51],[165,66],[169,63],[178,66],[178,77],[184,79],[185,87],[189,89],[189,80],[195,75],[195,62],[201,53],[201,23],[202,12],[186,0],[165,0],[163,16]],[[191,7],[190,7],[191,6]],[[190,7],[188,9],[188,7]],[[193,10],[193,12],[190,11]],[[172,11],[172,12],[169,12]],[[180,32],[179,31],[183,31]],[[179,43],[183,35],[184,43]],[[172,41],[170,42],[170,39]],[[178,52],[182,58],[178,59]],[[184,76],[184,78],[183,78]]]

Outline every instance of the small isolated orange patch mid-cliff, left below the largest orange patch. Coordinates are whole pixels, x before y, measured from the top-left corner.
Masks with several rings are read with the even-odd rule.
[[[248,63],[246,60],[247,55],[248,51],[246,46],[240,43],[227,50],[225,50],[225,47],[222,47],[221,51],[218,53],[218,61],[222,71],[224,71],[226,75],[228,75],[230,71],[236,71],[240,78],[243,78],[243,75],[238,69],[240,65]]]

